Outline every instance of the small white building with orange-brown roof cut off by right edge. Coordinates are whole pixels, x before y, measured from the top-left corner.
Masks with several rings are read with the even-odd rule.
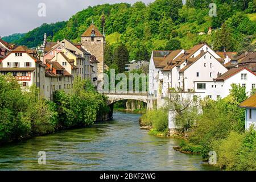
[[[240,107],[246,108],[245,129],[249,129],[250,125],[254,125],[254,129],[256,129],[256,93],[243,101]]]

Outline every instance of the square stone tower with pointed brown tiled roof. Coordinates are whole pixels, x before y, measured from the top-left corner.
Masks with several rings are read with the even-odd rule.
[[[102,79],[100,73],[104,72],[104,46],[105,36],[101,34],[96,26],[92,23],[90,27],[81,35],[81,44],[90,52],[96,56],[96,59],[100,62],[97,65],[98,80]]]

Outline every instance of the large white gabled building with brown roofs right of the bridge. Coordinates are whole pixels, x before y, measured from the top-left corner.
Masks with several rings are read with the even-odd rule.
[[[218,74],[228,71],[223,63],[224,59],[207,44],[196,45],[188,51],[153,51],[149,94],[158,99],[158,105],[163,105],[162,98],[170,88],[201,96],[201,92],[195,92],[195,81],[213,81]]]

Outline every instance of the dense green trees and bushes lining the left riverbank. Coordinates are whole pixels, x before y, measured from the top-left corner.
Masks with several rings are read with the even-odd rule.
[[[35,86],[22,89],[13,76],[0,75],[0,144],[89,126],[109,109],[105,96],[79,78],[74,81],[72,95],[58,90],[53,101],[39,95]]]

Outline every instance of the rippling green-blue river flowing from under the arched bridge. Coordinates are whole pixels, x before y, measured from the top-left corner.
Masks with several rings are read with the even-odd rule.
[[[114,120],[0,147],[0,170],[210,170],[201,156],[181,154],[179,139],[140,130],[139,114],[115,112]],[[38,152],[46,152],[46,165]]]

